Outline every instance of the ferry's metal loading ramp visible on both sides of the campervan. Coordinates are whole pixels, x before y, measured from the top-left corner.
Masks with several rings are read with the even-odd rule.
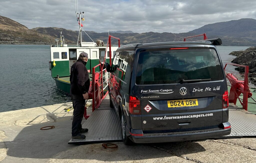
[[[256,136],[256,115],[231,103],[229,106],[229,122],[232,127],[231,134],[222,138]],[[115,110],[109,107],[108,96],[84,122],[82,127],[89,129],[89,132],[85,133],[86,139],[71,139],[68,144],[80,145],[122,141],[121,123]]]

